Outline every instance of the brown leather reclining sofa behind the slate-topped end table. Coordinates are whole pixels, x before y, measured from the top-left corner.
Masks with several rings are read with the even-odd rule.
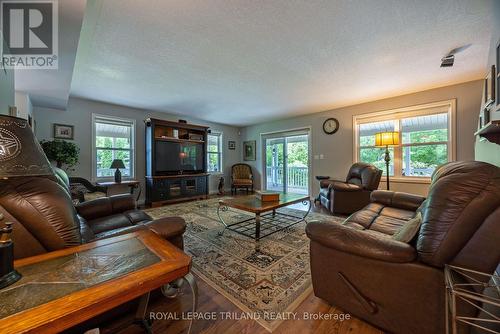
[[[153,220],[136,209],[131,195],[99,198],[75,209],[66,173],[56,170],[56,176],[58,182],[45,177],[1,181],[0,213],[13,222],[16,259],[145,228],[182,249],[182,218]]]

